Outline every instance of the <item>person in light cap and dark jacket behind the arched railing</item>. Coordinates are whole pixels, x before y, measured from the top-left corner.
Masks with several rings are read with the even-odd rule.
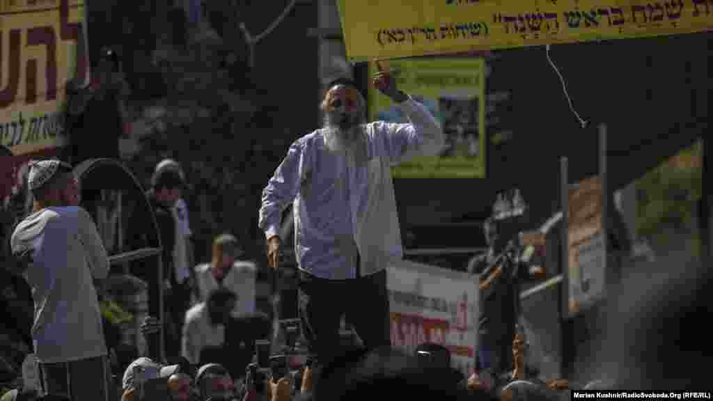
[[[176,227],[173,218],[173,208],[183,194],[185,183],[180,173],[173,169],[160,171],[153,177],[152,188],[146,193],[158,225],[163,248],[163,279],[166,292],[164,295],[167,313],[165,314],[166,350],[167,355],[180,355],[180,328],[183,314],[190,303],[190,283],[183,276],[176,274],[174,251],[176,245]],[[143,276],[142,276],[143,277]],[[158,283],[157,278],[149,277],[149,310],[150,315],[158,315]],[[179,280],[181,280],[179,282]],[[151,290],[153,289],[153,291]]]

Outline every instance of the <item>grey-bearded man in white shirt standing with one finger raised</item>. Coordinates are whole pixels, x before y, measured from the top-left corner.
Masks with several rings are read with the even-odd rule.
[[[391,166],[437,156],[441,126],[396,87],[391,73],[374,86],[409,123],[366,123],[356,83],[337,79],[322,101],[324,126],[292,143],[262,191],[259,226],[278,268],[282,211],[292,203],[299,266],[299,315],[312,357],[329,360],[346,314],[367,348],[390,345],[386,265],[403,258]]]

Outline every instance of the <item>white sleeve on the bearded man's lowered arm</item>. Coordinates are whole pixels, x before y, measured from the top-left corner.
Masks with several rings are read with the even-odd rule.
[[[258,226],[265,231],[267,238],[279,234],[282,211],[297,196],[301,177],[304,176],[304,157],[304,142],[298,140],[292,143],[287,156],[277,166],[272,178],[262,190]]]

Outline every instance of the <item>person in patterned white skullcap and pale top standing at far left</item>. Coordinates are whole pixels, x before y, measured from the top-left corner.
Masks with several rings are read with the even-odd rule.
[[[110,372],[94,280],[109,263],[95,223],[79,207],[78,181],[58,160],[32,161],[32,213],[17,225],[16,272],[32,289],[34,353],[43,392],[108,400]]]

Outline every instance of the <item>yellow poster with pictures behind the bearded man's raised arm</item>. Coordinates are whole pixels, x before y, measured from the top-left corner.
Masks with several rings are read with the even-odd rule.
[[[485,178],[485,61],[483,59],[401,59],[380,61],[399,88],[441,123],[446,143],[438,156],[416,156],[392,168],[394,178]],[[369,73],[376,73],[374,63]],[[407,123],[407,116],[375,88],[369,88],[369,119]]]

